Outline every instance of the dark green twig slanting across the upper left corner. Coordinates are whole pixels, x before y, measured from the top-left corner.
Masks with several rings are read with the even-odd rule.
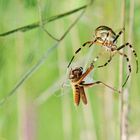
[[[74,14],[74,13],[76,13],[78,11],[81,11],[81,10],[85,9],[86,7],[87,7],[87,5],[84,5],[84,6],[81,6],[81,7],[77,8],[77,9],[71,10],[69,12],[59,14],[59,15],[56,15],[56,16],[52,16],[50,18],[46,18],[46,19],[42,20],[42,25],[45,25],[45,24],[47,24],[49,22],[58,20],[58,19],[63,18],[65,16],[69,16],[71,14]],[[22,27],[19,27],[19,28],[16,28],[16,29],[4,32],[4,33],[1,33],[0,37],[7,36],[7,35],[13,34],[13,33],[18,32],[18,31],[27,32],[27,31],[30,31],[30,30],[38,28],[38,27],[40,27],[40,21],[34,22],[34,23],[26,25],[26,26],[22,26]]]

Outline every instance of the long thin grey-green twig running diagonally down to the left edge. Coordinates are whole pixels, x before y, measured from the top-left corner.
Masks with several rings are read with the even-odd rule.
[[[66,30],[66,32],[61,36],[59,42],[57,42],[54,46],[50,47],[46,50],[46,53],[41,57],[41,59],[31,68],[29,69],[23,77],[19,80],[19,82],[15,85],[15,87],[9,92],[9,94],[0,101],[0,105],[4,104],[6,100],[12,96],[15,91],[27,80],[29,79],[35,71],[37,71],[44,62],[48,59],[48,56],[52,53],[52,51],[59,47],[60,42],[66,37],[69,31],[74,27],[74,25],[78,22],[81,16],[85,13],[85,10],[76,18],[76,20],[70,25],[70,27]]]

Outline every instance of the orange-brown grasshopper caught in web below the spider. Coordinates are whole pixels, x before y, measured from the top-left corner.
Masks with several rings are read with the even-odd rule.
[[[93,83],[85,83],[85,81],[83,81],[86,76],[93,70],[94,66],[93,63],[91,63],[90,67],[83,73],[83,68],[82,67],[77,67],[75,69],[71,69],[69,72],[69,79],[71,81],[71,86],[73,89],[73,98],[74,98],[74,103],[75,105],[79,105],[80,103],[80,98],[82,98],[82,101],[84,104],[87,104],[87,98],[86,98],[86,94],[85,94],[85,87],[91,87],[94,86],[96,84],[102,84],[114,91],[117,91],[119,93],[121,93],[120,91],[114,89],[113,87],[103,83],[102,81],[96,81]]]

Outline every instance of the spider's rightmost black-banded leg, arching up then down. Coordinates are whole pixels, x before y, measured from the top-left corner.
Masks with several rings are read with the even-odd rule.
[[[119,50],[121,50],[122,48],[124,48],[124,47],[126,47],[126,46],[128,46],[128,47],[131,49],[132,53],[133,53],[134,56],[135,56],[136,67],[137,67],[137,68],[136,68],[136,73],[138,73],[138,56],[137,56],[136,51],[133,49],[132,45],[129,44],[129,43],[125,43],[125,44],[123,44],[122,46],[120,46],[119,48],[117,48],[117,50],[119,51]]]

